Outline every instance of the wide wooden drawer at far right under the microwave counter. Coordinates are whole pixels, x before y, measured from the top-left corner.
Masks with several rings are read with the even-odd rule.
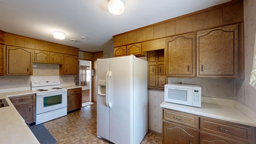
[[[204,117],[200,118],[200,129],[245,142],[251,142],[254,136],[254,128],[251,126],[244,126]]]

